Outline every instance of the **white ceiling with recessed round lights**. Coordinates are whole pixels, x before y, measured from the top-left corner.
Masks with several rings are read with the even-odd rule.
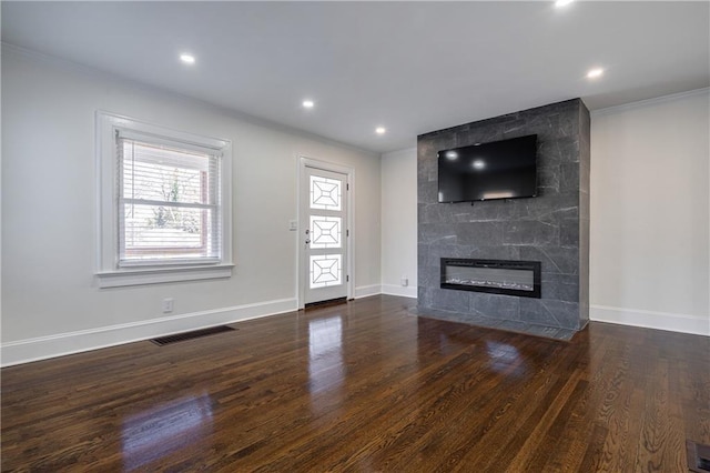
[[[707,1],[2,1],[2,41],[377,152],[576,97],[710,85]]]

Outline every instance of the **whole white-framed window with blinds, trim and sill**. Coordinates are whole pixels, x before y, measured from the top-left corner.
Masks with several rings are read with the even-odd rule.
[[[231,145],[100,112],[101,286],[231,275]]]

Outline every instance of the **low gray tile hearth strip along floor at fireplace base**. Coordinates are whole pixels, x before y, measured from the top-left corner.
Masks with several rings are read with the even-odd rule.
[[[582,331],[586,329],[571,330],[571,329],[562,329],[555,328],[548,325],[537,325],[532,323],[526,323],[515,320],[501,320],[501,319],[493,319],[484,315],[473,314],[473,313],[464,313],[464,312],[453,312],[453,311],[443,311],[440,309],[428,309],[428,308],[412,308],[409,312],[413,315],[425,318],[425,319],[437,319],[445,320],[448,322],[457,322],[465,323],[468,325],[483,326],[486,329],[497,329],[505,330],[508,332],[517,332],[526,335],[532,336],[542,336],[545,339],[558,340],[564,342],[569,342],[575,333]]]

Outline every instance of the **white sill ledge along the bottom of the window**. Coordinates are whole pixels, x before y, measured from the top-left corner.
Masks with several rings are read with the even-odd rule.
[[[99,288],[122,288],[126,285],[160,284],[165,282],[200,281],[224,279],[232,275],[234,264],[209,266],[179,266],[130,269],[97,273]]]

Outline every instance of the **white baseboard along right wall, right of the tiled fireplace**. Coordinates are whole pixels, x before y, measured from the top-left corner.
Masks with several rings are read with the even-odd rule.
[[[622,325],[710,336],[710,318],[698,315],[590,305],[589,319],[598,322],[619,323]]]

